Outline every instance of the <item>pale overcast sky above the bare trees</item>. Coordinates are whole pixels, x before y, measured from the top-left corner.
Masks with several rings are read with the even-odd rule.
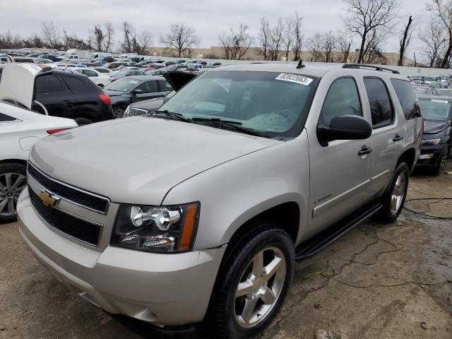
[[[415,34],[429,20],[425,4],[431,0],[399,0],[400,21],[408,16],[415,18]],[[316,31],[343,30],[340,16],[345,13],[342,0],[228,0],[228,1],[143,1],[143,0],[0,0],[0,33],[10,30],[23,36],[40,32],[42,21],[52,20],[62,30],[87,38],[88,30],[97,23],[110,21],[116,28],[115,38],[121,38],[119,26],[125,20],[137,30],[153,32],[153,45],[159,45],[158,37],[174,22],[185,22],[201,36],[199,47],[218,46],[217,35],[237,27],[249,25],[251,35],[257,37],[260,18],[270,23],[278,17],[293,16],[295,11],[303,17],[304,37]],[[401,25],[400,25],[401,26]],[[401,30],[401,27],[398,28]],[[358,41],[352,48],[357,48]],[[420,47],[413,39],[409,54]],[[398,38],[388,37],[386,52],[396,52]]]

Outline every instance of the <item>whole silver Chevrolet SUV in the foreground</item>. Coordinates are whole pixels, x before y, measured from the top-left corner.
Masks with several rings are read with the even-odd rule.
[[[403,208],[417,97],[406,77],[357,67],[225,66],[148,117],[44,138],[18,201],[25,244],[111,314],[258,335],[296,258]]]

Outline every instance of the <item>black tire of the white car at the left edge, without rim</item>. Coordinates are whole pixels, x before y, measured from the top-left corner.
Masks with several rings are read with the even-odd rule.
[[[12,184],[16,182],[16,179],[18,179],[18,176],[21,175],[25,179],[23,179],[22,182],[19,182],[20,185],[18,185],[18,188],[20,190],[16,190],[16,188],[8,189],[6,191],[6,174],[13,174],[13,177],[11,177]],[[15,222],[17,220],[16,216],[16,204],[17,204],[17,198],[20,194],[21,189],[23,189],[26,186],[26,177],[27,177],[27,167],[23,164],[20,164],[18,162],[4,162],[0,164],[0,223],[6,223],[6,222]],[[11,196],[10,196],[11,195]],[[8,200],[10,199],[10,200]],[[14,213],[13,215],[7,215],[7,208],[8,203],[12,201],[13,207],[14,207]],[[6,206],[2,206],[2,203],[6,202]]]

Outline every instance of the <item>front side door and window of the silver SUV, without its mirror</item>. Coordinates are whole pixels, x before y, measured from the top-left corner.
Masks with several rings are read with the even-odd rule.
[[[328,89],[317,126],[329,126],[334,117],[363,117],[357,81],[353,77],[337,78]],[[369,117],[365,117],[369,120]],[[321,144],[316,127],[309,133],[311,194],[309,198],[310,229],[319,232],[357,210],[371,198],[369,184],[372,153],[359,155],[372,147],[366,140],[336,140]]]

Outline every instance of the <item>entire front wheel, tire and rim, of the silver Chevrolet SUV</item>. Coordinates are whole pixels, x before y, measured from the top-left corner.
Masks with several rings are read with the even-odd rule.
[[[258,225],[222,263],[210,303],[220,338],[263,331],[282,306],[295,270],[292,239],[273,225]]]

